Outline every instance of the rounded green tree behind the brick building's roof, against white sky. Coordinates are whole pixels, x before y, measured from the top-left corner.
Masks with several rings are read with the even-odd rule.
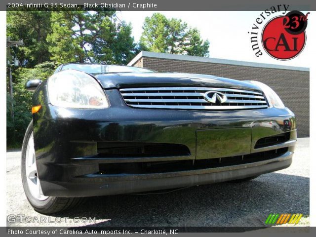
[[[209,55],[209,41],[201,39],[197,28],[189,28],[181,19],[167,19],[160,13],[145,18],[139,48],[163,53]]]

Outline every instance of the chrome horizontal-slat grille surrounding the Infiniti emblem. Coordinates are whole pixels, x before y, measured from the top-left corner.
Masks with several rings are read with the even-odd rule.
[[[205,100],[206,92],[225,94],[224,103]],[[125,103],[130,107],[150,109],[185,110],[244,110],[264,109],[267,102],[261,92],[214,87],[144,87],[120,89]]]

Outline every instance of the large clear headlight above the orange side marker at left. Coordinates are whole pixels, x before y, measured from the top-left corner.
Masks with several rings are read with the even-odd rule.
[[[109,102],[99,83],[90,75],[65,70],[52,75],[47,82],[48,98],[52,105],[80,108],[108,108]]]

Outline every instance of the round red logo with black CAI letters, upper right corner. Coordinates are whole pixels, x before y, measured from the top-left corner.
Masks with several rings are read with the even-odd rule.
[[[262,31],[263,48],[271,57],[278,60],[296,57],[305,46],[307,21],[296,13],[298,11],[293,12],[271,19]]]

